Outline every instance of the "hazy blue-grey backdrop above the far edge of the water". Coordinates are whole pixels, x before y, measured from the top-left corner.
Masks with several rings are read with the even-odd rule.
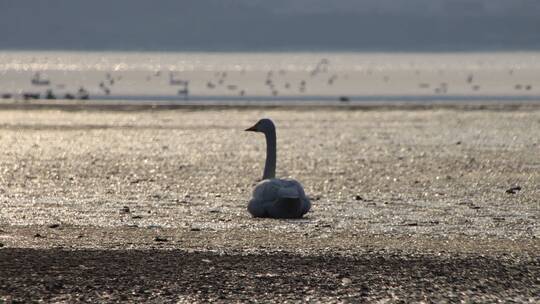
[[[537,0],[0,1],[0,49],[540,49]]]

